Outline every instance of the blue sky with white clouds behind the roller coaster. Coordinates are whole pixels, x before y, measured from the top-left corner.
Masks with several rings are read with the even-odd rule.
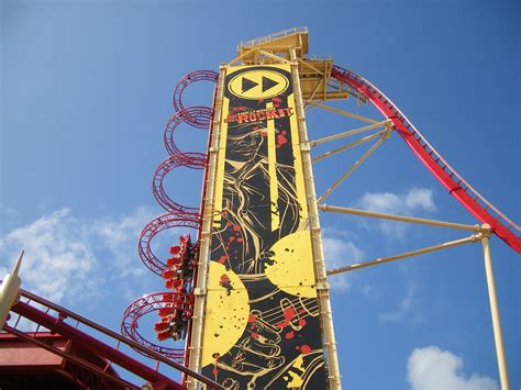
[[[112,328],[132,299],[162,290],[136,241],[162,213],[151,180],[167,156],[177,80],[217,70],[239,41],[287,27],[308,26],[311,55],[373,81],[458,172],[521,220],[517,1],[4,0],[0,10],[0,270],[24,246],[25,288]],[[186,105],[210,103],[210,85],[187,91]],[[311,137],[348,129],[313,111]],[[187,151],[202,151],[204,140],[180,130]],[[319,163],[318,193],[362,153]],[[179,171],[167,188],[198,204],[200,180]],[[396,134],[328,203],[475,223]],[[465,236],[330,214],[322,226],[330,265]],[[157,252],[174,237],[158,239]],[[520,389],[520,258],[497,238],[492,256],[511,387]],[[479,245],[332,282],[346,389],[499,387]]]

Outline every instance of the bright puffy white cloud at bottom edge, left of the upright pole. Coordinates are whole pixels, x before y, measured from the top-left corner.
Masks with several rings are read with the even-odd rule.
[[[412,390],[498,390],[496,380],[463,371],[463,359],[436,346],[415,348],[407,364],[407,379]]]

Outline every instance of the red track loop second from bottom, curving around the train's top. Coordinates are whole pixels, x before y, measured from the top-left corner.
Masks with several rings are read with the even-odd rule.
[[[141,233],[137,250],[140,253],[143,264],[154,274],[163,277],[163,271],[169,269],[165,263],[159,260],[152,252],[151,242],[154,236],[167,229],[173,227],[190,227],[199,230],[200,215],[186,211],[174,211],[159,215],[158,218],[148,222]]]

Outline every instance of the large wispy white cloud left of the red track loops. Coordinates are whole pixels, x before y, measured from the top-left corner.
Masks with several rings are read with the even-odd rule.
[[[133,276],[145,272],[136,241],[151,218],[146,209],[93,220],[75,218],[67,208],[55,211],[0,238],[0,256],[10,260],[2,261],[0,277],[24,248],[22,288],[54,302],[92,302],[103,282],[109,286],[108,280],[129,270],[135,270]]]

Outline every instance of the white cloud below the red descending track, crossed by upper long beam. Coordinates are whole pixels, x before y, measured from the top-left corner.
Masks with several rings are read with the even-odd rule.
[[[355,205],[364,210],[400,215],[436,211],[433,190],[428,188],[411,188],[400,194],[392,192],[366,192]],[[367,220],[364,222],[365,226],[370,226]],[[401,239],[407,232],[407,223],[403,222],[380,220],[376,226],[384,234],[392,238]]]

